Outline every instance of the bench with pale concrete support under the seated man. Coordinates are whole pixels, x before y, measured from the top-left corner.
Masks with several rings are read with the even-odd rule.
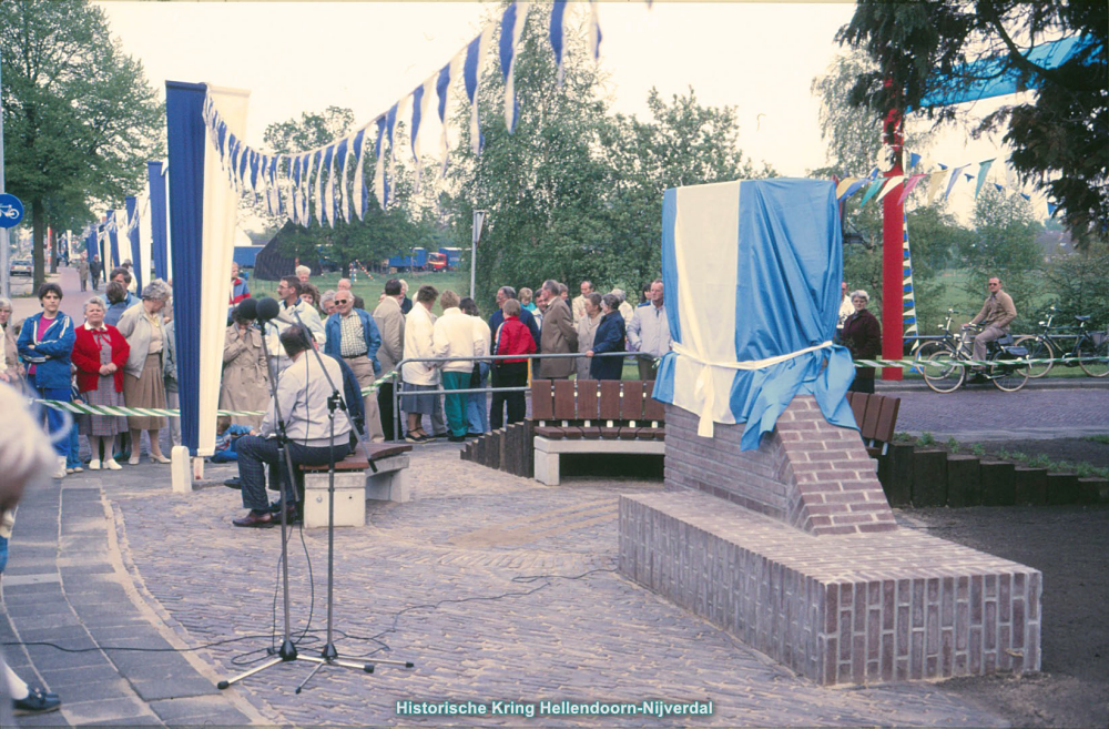
[[[363,447],[365,446],[365,447]],[[405,469],[413,447],[407,443],[360,444],[335,464],[335,526],[366,524],[366,500],[409,500]],[[366,455],[369,454],[367,460]],[[374,468],[370,468],[373,462]],[[327,465],[298,467],[304,475],[304,526],[327,526]]]

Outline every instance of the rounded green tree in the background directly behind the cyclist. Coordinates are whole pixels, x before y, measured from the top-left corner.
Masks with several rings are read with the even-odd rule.
[[[1034,321],[1032,302],[1042,261],[1036,243],[1040,229],[1024,198],[983,188],[975,203],[974,232],[958,242],[960,265],[969,274],[965,291],[971,301],[984,301],[986,282],[998,276],[1001,287],[1013,296],[1017,321]]]

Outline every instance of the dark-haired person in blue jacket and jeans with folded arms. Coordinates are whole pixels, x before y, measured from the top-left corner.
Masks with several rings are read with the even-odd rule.
[[[73,320],[60,311],[62,290],[58,284],[39,286],[39,304],[42,312],[28,316],[19,332],[19,356],[28,363],[28,382],[42,399],[70,402],[73,388],[70,378],[70,356],[73,353]],[[58,454],[58,470],[54,478],[65,477],[65,462],[69,456],[69,434],[62,429],[69,419],[64,413],[52,407],[47,411],[47,424]],[[71,424],[71,427],[75,427]]]

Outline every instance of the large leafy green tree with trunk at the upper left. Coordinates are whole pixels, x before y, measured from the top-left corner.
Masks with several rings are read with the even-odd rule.
[[[122,207],[142,190],[143,162],[164,154],[165,114],[142,65],[85,0],[4,2],[0,61],[7,186],[29,203],[38,286],[47,227],[77,227],[93,219],[93,203]]]

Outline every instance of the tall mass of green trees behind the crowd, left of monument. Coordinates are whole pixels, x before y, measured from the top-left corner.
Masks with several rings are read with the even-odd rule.
[[[559,85],[539,20],[549,8],[531,12],[516,62],[515,132],[503,122],[495,64],[481,82],[480,155],[470,151],[469,108],[456,117],[461,140],[444,200],[455,244],[469,244],[472,211],[488,211],[477,256],[479,303],[491,302],[500,285],[536,288],[546,279],[571,288],[584,279],[601,290],[621,285],[633,298],[661,271],[667,188],[767,171],[740,152],[735,110],[703,107],[692,90],[669,101],[652,92],[648,120],[610,114],[580,28],[568,33]]]

